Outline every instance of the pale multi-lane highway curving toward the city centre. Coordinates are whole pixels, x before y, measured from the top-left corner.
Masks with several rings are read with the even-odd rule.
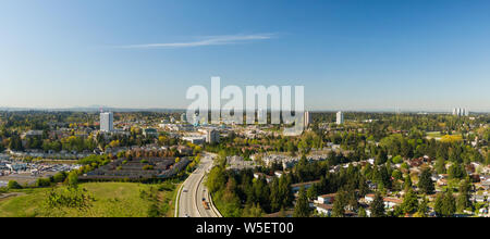
[[[221,217],[218,210],[212,204],[208,190],[204,185],[206,174],[212,167],[213,154],[204,153],[200,164],[196,171],[184,181],[179,191],[179,217]],[[208,203],[209,209],[205,209],[203,199]]]

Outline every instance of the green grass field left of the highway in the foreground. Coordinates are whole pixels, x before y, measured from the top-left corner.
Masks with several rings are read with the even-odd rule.
[[[62,188],[64,186],[61,186]],[[150,202],[140,197],[142,190],[149,190],[158,185],[134,183],[87,183],[79,187],[95,198],[88,210],[64,210],[58,216],[66,217],[146,217]],[[173,216],[174,198],[179,186],[158,192],[161,207],[166,216]],[[0,217],[42,217],[48,216],[42,210],[47,192],[51,189],[36,188],[16,190],[21,196],[0,200]],[[51,215],[52,216],[52,215]]]

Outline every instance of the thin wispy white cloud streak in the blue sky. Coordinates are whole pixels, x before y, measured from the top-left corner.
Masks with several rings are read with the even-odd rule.
[[[218,45],[232,45],[246,41],[257,41],[271,39],[275,34],[254,34],[254,35],[225,35],[225,36],[208,36],[201,37],[195,41],[187,42],[169,42],[169,43],[145,43],[145,45],[126,45],[118,46],[117,48],[193,48]]]

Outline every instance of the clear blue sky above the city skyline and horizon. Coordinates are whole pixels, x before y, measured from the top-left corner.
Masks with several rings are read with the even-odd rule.
[[[220,76],[304,86],[308,110],[490,111],[488,0],[0,7],[0,106],[185,109]]]

